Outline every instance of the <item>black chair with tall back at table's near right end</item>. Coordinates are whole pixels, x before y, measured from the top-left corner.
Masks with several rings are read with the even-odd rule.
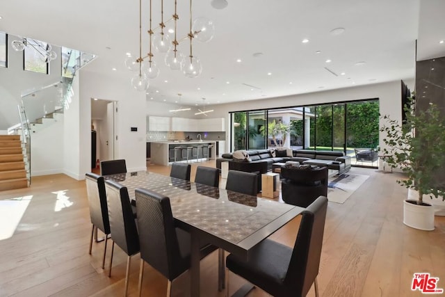
[[[327,210],[321,196],[302,211],[300,229],[293,248],[265,239],[254,247],[245,261],[235,255],[226,258],[226,294],[229,271],[277,297],[306,296],[314,283],[318,297],[317,275]]]

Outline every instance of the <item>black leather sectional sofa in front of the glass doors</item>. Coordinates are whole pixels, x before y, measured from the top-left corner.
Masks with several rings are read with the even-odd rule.
[[[259,175],[258,186],[261,188],[261,174],[272,171],[273,163],[285,163],[286,161],[298,161],[302,164],[310,164],[319,167],[327,167],[336,170],[337,175],[343,175],[351,168],[350,156],[345,156],[343,152],[316,151],[316,150],[287,150],[286,156],[273,156],[272,150],[248,150],[247,160],[236,160],[233,154],[223,154],[216,159],[216,167],[221,169],[222,162],[229,162],[229,170],[239,170],[245,172],[257,172]]]

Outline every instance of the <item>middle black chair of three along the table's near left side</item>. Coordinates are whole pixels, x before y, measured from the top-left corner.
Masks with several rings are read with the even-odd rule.
[[[127,187],[112,180],[106,180],[105,187],[111,239],[113,239],[108,276],[111,276],[114,244],[116,243],[128,255],[127,273],[125,275],[125,296],[127,296],[131,256],[139,252],[138,229],[136,228],[136,221],[131,209]]]

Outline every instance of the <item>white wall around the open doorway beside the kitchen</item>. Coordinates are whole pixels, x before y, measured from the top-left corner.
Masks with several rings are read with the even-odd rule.
[[[145,93],[135,90],[127,79],[106,76],[84,71],[80,79],[80,101],[91,106],[92,97],[118,102],[116,158],[125,159],[128,171],[147,170],[145,160]],[[81,143],[81,163],[83,175],[89,172],[91,155],[91,107],[85,108],[80,117],[81,135],[86,136]],[[138,131],[131,132],[131,127]],[[88,139],[87,139],[88,138]]]

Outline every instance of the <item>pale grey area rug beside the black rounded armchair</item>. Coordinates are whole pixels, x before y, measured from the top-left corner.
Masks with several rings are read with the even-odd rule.
[[[369,175],[344,174],[331,177],[327,184],[327,200],[329,202],[344,203],[359,186],[368,179]]]

